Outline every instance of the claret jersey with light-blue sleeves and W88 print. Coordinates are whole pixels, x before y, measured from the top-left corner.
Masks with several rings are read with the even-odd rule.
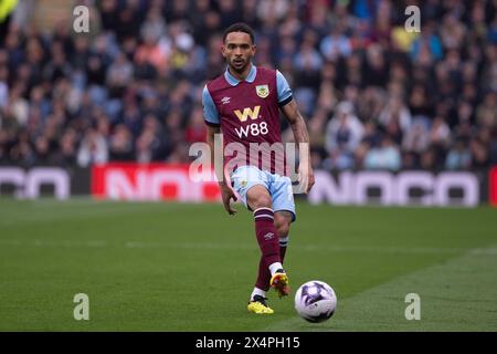
[[[285,162],[279,107],[292,98],[292,90],[277,70],[252,65],[244,81],[239,81],[226,70],[223,75],[208,82],[203,88],[204,121],[208,125],[221,127],[224,148],[232,143],[245,148],[246,159],[240,162],[237,158],[235,166],[255,165],[261,169],[282,174],[278,166],[284,166]],[[256,148],[262,152],[258,156],[251,154],[251,150]],[[271,156],[271,166],[263,164],[264,153]],[[239,157],[236,155],[225,154],[224,165]]]

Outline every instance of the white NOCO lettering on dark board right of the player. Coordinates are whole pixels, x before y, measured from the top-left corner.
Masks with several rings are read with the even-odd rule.
[[[347,171],[335,179],[329,173],[317,170],[315,178],[309,194],[311,204],[475,207],[479,202],[478,178],[472,173]],[[372,189],[378,191],[374,197],[370,194]],[[412,196],[413,190],[421,195]]]

